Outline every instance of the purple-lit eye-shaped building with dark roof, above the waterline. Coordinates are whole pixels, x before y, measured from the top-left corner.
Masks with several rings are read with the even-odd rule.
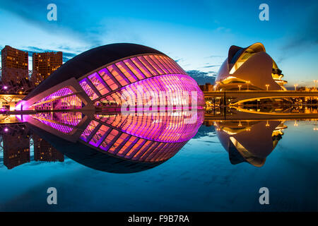
[[[145,93],[151,97],[144,97]],[[205,105],[196,81],[170,57],[143,45],[119,43],[90,49],[67,61],[16,109],[118,108],[127,99],[141,100],[136,105],[150,109]]]

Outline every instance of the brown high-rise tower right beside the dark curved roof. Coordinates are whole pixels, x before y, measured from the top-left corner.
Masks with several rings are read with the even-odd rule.
[[[39,85],[63,64],[62,52],[37,52],[33,54],[32,81]]]

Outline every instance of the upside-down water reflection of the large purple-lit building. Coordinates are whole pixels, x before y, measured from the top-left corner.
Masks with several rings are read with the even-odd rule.
[[[126,173],[155,167],[174,156],[195,136],[204,111],[42,112],[19,119],[40,136],[35,138],[44,139],[76,162],[105,172]],[[59,160],[57,155],[50,156]]]

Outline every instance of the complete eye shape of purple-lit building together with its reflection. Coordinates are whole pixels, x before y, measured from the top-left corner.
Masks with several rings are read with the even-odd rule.
[[[122,112],[127,99],[134,102]],[[203,123],[204,106],[199,85],[167,55],[139,44],[108,44],[67,61],[16,109],[37,110],[20,120],[73,160],[131,172],[175,155]]]

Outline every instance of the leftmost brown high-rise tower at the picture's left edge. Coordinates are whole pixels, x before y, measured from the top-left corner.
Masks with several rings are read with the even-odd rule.
[[[6,45],[1,50],[1,81],[8,85],[28,85],[28,52]]]

